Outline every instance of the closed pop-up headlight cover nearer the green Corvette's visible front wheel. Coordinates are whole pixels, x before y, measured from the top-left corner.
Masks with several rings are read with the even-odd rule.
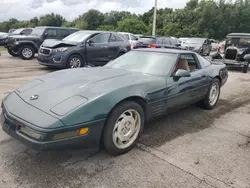
[[[50,111],[58,116],[64,116],[77,107],[83,105],[87,101],[87,98],[80,95],[75,95],[57,104],[56,106],[51,108]]]

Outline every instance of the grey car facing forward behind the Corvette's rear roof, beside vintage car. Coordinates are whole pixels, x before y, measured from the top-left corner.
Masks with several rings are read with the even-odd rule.
[[[212,44],[208,38],[188,38],[183,47],[200,55],[208,56],[211,52]]]

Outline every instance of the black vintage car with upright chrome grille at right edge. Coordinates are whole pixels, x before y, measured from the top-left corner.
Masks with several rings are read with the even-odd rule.
[[[214,58],[216,59],[216,58]],[[250,64],[250,33],[230,33],[225,43],[223,62],[247,73]]]

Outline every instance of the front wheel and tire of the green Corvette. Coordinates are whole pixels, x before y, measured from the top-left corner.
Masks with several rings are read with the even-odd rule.
[[[135,132],[132,131],[135,127],[133,126],[133,121],[129,121],[128,119],[127,121],[125,120],[123,122],[124,117],[121,117],[123,115],[126,118],[131,118],[134,120],[135,118],[131,116],[132,114],[134,117],[136,116],[138,120],[137,129],[134,130]],[[115,107],[108,116],[103,130],[102,141],[106,151],[114,156],[130,151],[134,147],[136,141],[139,139],[143,131],[145,123],[144,117],[145,116],[142,107],[136,102],[126,101]],[[121,123],[119,124],[118,122]],[[129,134],[129,131],[132,131],[133,134],[132,136],[127,135],[131,136],[129,141],[123,141],[123,143],[121,143],[120,138],[118,138],[119,136],[115,136],[115,131],[117,131],[116,135],[119,135],[122,137],[122,139],[126,139],[125,136],[126,134]],[[120,143],[118,143],[118,140],[120,140]]]

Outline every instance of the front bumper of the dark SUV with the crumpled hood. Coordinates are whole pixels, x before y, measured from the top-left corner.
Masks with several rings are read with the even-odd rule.
[[[51,54],[49,56],[38,53],[37,60],[39,64],[48,67],[66,68],[67,65],[67,58],[61,53]]]

